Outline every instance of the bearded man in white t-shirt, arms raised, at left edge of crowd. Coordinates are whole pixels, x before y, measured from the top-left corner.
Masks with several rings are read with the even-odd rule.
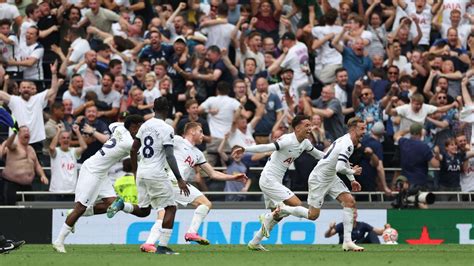
[[[56,64],[51,67],[53,80],[51,89],[34,94],[34,84],[31,81],[20,83],[20,96],[10,95],[0,91],[0,99],[8,104],[15,116],[18,125],[26,125],[30,128],[30,145],[35,150],[41,150],[41,142],[46,138],[43,120],[43,109],[48,105],[48,101],[54,101],[58,88],[62,81],[58,81]]]

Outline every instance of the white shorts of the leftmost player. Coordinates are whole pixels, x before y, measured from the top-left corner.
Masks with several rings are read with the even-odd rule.
[[[75,194],[74,202],[80,202],[86,207],[93,206],[97,199],[117,196],[107,173],[94,174],[84,165],[79,171]]]

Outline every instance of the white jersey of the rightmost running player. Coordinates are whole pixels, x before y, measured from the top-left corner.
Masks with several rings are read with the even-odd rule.
[[[349,134],[346,134],[334,141],[329,147],[323,159],[319,160],[309,175],[310,179],[317,181],[329,181],[336,177],[336,164],[343,161],[349,165],[349,157],[354,152],[354,144]]]

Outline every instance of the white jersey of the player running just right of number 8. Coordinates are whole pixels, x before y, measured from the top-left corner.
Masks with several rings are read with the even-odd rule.
[[[174,156],[178,162],[179,172],[181,173],[183,179],[188,182],[194,181],[194,166],[201,165],[206,163],[206,158],[202,151],[200,151],[196,146],[192,145],[187,139],[182,138],[181,136],[174,137]],[[168,164],[166,165],[168,171],[168,176],[171,181],[176,181],[176,177],[171,171]]]

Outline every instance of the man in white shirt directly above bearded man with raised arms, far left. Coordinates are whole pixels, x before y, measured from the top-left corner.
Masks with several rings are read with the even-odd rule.
[[[39,29],[35,26],[26,29],[25,42],[20,41],[19,53],[15,59],[8,60],[8,66],[19,66],[26,80],[43,80],[44,48],[38,42]]]

